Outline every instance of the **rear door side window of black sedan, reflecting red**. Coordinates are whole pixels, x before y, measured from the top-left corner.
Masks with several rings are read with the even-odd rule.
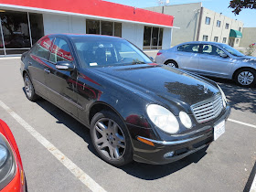
[[[48,59],[49,48],[51,47],[53,38],[45,37],[37,42],[35,48],[33,47],[31,53],[39,58]]]

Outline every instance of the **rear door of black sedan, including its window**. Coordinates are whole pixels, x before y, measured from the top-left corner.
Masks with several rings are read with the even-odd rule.
[[[27,57],[28,72],[37,93],[48,97],[45,69],[48,68],[49,48],[52,45],[53,37],[40,39],[29,52]]]

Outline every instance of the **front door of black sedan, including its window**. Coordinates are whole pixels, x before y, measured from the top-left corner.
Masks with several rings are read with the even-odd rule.
[[[45,71],[48,97],[60,108],[77,117],[77,70],[56,69],[55,66],[58,61],[68,61],[75,64],[68,40],[61,37],[56,37],[50,48],[50,64]]]

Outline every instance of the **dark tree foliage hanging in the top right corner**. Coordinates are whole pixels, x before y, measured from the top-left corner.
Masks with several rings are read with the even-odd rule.
[[[241,9],[251,8],[256,9],[256,0],[231,0],[229,7],[233,8],[233,13],[239,15]]]

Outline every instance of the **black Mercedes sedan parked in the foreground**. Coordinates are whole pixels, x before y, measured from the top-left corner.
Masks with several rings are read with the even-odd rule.
[[[120,37],[55,34],[21,57],[27,99],[44,98],[90,128],[112,165],[167,164],[206,148],[230,112],[212,80],[157,65]]]

